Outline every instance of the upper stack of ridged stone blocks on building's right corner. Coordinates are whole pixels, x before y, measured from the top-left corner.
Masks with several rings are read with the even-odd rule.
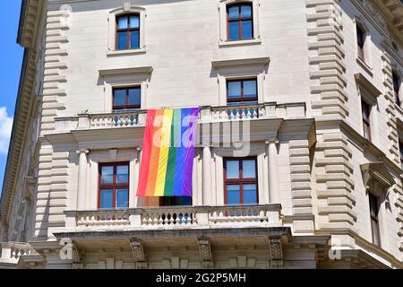
[[[315,23],[314,28],[308,28],[308,36],[313,39],[308,48],[317,51],[317,56],[309,57],[312,108],[320,109],[317,119],[345,118],[348,96],[339,0],[306,0],[306,7],[307,21]]]

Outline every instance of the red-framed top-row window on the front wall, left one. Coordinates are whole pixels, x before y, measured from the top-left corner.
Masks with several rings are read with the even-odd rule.
[[[116,17],[116,49],[140,48],[140,15],[124,14]]]

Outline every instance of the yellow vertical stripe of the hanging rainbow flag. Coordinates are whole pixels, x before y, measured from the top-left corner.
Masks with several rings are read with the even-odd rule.
[[[154,196],[164,196],[173,114],[174,114],[173,109],[166,109],[164,112],[164,122],[162,124],[162,130],[161,130],[161,147],[159,149],[159,171],[157,175],[157,183],[155,186]]]

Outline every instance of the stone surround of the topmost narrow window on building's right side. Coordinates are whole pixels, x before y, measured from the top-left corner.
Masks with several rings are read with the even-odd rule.
[[[372,53],[372,39],[371,34],[368,32],[370,29],[368,25],[364,22],[364,19],[360,16],[356,16],[353,20],[354,22],[354,33],[355,33],[355,47],[356,47],[356,62],[371,76],[373,76],[373,53]],[[358,57],[358,47],[356,45],[356,27],[360,26],[361,30],[365,32],[365,42],[364,42],[364,60]]]

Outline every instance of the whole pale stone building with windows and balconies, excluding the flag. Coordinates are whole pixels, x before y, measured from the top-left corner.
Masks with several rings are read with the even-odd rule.
[[[399,0],[23,0],[4,268],[402,268]],[[200,107],[193,196],[137,197]]]

